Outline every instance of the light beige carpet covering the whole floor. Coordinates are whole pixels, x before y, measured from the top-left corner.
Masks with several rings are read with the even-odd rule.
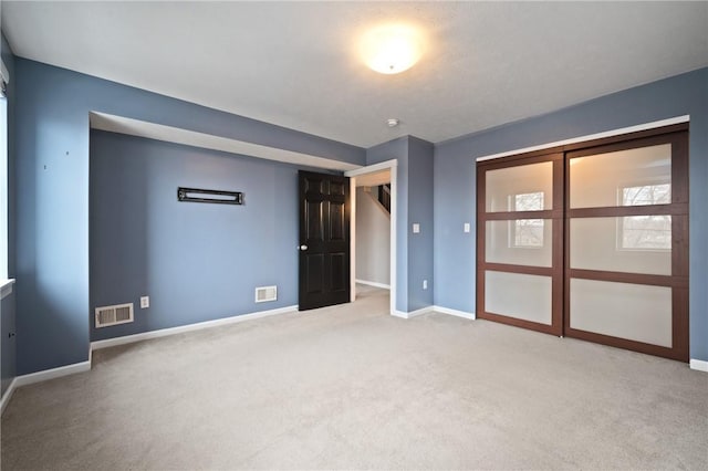
[[[707,469],[708,375],[352,305],[98,350],[20,388],[2,469]]]

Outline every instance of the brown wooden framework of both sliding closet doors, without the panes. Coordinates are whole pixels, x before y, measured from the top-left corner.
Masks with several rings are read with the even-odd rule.
[[[524,327],[552,335],[574,337],[595,342],[618,348],[631,349],[681,362],[688,360],[689,355],[689,219],[688,219],[688,123],[644,129],[624,135],[616,135],[598,139],[573,143],[546,149],[519,154],[492,160],[477,163],[477,316],[479,318]],[[606,208],[582,208],[570,210],[570,159],[583,155],[597,154],[598,149],[622,150],[643,147],[652,144],[671,144],[671,203],[663,205],[666,212],[671,214],[671,275],[633,274],[625,272],[600,272],[570,269],[570,218],[605,214]],[[613,150],[606,150],[613,151]],[[486,172],[488,170],[507,167],[553,161],[553,207],[544,211],[525,212],[490,212],[486,209]],[[560,179],[560,184],[559,180]],[[560,198],[560,200],[559,200]],[[629,209],[624,209],[629,208]],[[641,216],[654,214],[655,207],[620,207],[616,214],[610,216]],[[615,208],[617,209],[617,208]],[[612,211],[610,211],[612,212]],[[553,220],[553,252],[551,268],[534,268],[524,265],[507,265],[486,262],[486,230],[488,220],[514,219],[551,219]],[[556,220],[556,218],[561,218]],[[558,253],[560,252],[560,253]],[[541,274],[552,276],[552,325],[539,324],[518,320],[485,311],[485,272],[503,271],[508,273]],[[549,272],[550,270],[550,272]],[[550,273],[550,274],[549,274]],[[642,342],[628,341],[608,335],[573,329],[570,327],[570,279],[585,276],[591,280],[601,276],[604,281],[634,282],[669,286],[671,289],[671,348]],[[560,327],[559,327],[560,326]]]

